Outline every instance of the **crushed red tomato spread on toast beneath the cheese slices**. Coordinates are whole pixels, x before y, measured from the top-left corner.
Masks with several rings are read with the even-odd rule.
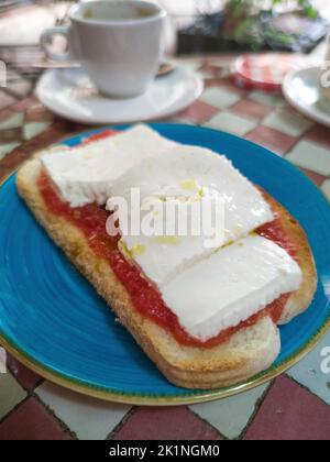
[[[88,138],[85,143],[101,140],[116,133],[109,130]],[[94,253],[109,263],[118,280],[130,294],[135,309],[142,316],[147,317],[166,331],[169,331],[178,343],[187,346],[213,348],[229,341],[241,329],[254,326],[267,316],[274,322],[279,320],[289,294],[283,295],[246,321],[241,322],[237,327],[223,330],[217,337],[207,341],[201,341],[189,336],[180,326],[176,315],[166,306],[158,289],[141,274],[135,265],[128,262],[118,250],[119,239],[108,235],[106,222],[109,212],[107,210],[94,204],[72,208],[69,204],[62,200],[55,185],[53,185],[45,172],[41,173],[37,186],[50,212],[63,217],[76,226],[84,233]],[[276,242],[292,256],[295,256],[295,248],[285,234],[279,217],[275,218],[272,223],[261,227],[257,233]],[[80,249],[78,245],[75,251],[77,254],[79,253]]]

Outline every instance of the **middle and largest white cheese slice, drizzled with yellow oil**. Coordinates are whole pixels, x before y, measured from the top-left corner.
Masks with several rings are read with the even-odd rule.
[[[249,234],[274,218],[262,194],[224,156],[201,147],[174,147],[157,158],[143,161],[119,178],[112,186],[112,195],[124,197],[134,209],[132,188],[140,189],[143,204],[169,198],[207,201],[216,197],[222,201],[224,230],[217,248]],[[121,242],[144,274],[158,286],[216,250],[206,246],[204,234],[165,235],[162,239],[142,232],[140,235],[124,233]]]

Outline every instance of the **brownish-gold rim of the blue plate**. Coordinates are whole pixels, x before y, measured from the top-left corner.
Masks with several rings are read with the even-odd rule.
[[[157,127],[168,127],[168,125],[175,125],[177,128],[185,128],[187,125],[179,124],[179,123],[153,123],[151,124],[154,128]],[[122,125],[122,129],[127,128],[128,125]],[[188,125],[190,127],[190,125]],[[191,128],[191,127],[190,127]],[[210,128],[201,128],[196,127],[197,129],[201,130],[210,130],[212,132],[222,133],[226,135],[230,135],[237,139],[240,139],[240,136],[232,135],[230,133],[221,132],[219,130],[210,129]],[[103,130],[111,129],[110,127],[102,127],[102,128],[95,128],[91,130],[86,131],[79,131],[76,134],[73,134],[69,138],[64,138],[63,140],[59,140],[58,142],[51,144],[52,145],[58,145],[61,143],[67,143],[76,138],[81,138],[84,134],[89,134],[94,132],[102,132]],[[244,139],[241,139],[244,140]],[[272,153],[272,151],[267,150],[266,147],[260,146],[256,143],[253,143],[249,140],[244,140],[245,142],[262,147],[266,152],[271,153],[272,155],[275,155]],[[277,157],[277,156],[276,156]],[[319,193],[320,197],[323,198],[323,200],[327,201],[326,196],[322,194],[322,191],[317,188],[314,183],[304,175],[297,167],[289,164],[284,158],[278,158],[278,161],[288,164],[293,169],[296,170],[299,175],[301,175],[305,180],[309,182]],[[2,180],[0,180],[0,188],[2,188],[13,176],[15,176],[16,170],[20,167],[13,169],[8,176],[6,176]],[[329,301],[328,301],[329,304]],[[67,389],[74,391],[76,393],[99,398],[106,402],[112,402],[112,403],[120,403],[120,404],[128,404],[128,405],[138,405],[138,406],[178,406],[178,405],[194,405],[199,403],[207,403],[212,402],[217,399],[223,399],[237,394],[241,394],[243,392],[248,392],[252,388],[255,388],[257,386],[261,386],[276,377],[278,377],[280,374],[285,373],[288,369],[293,367],[295,364],[297,364],[299,361],[301,361],[307,354],[309,354],[315,346],[322,340],[322,338],[326,336],[326,333],[330,330],[330,314],[326,318],[323,324],[315,332],[312,337],[310,337],[304,345],[301,345],[295,353],[293,353],[289,358],[287,358],[285,361],[283,361],[278,365],[273,365],[268,370],[262,372],[261,374],[251,377],[250,380],[245,381],[244,383],[240,383],[230,387],[219,388],[215,391],[195,391],[195,389],[186,389],[187,395],[174,395],[174,396],[167,396],[167,395],[148,395],[143,393],[131,393],[131,392],[122,392],[122,391],[116,391],[111,389],[110,387],[99,387],[99,386],[92,386],[91,384],[85,384],[82,381],[79,381],[77,378],[67,377],[64,374],[59,373],[58,371],[52,371],[51,367],[42,364],[40,361],[34,360],[29,354],[26,354],[23,350],[21,350],[18,345],[15,345],[14,342],[10,341],[4,334],[1,334],[0,332],[0,345],[2,345],[13,358],[15,358],[18,361],[20,361],[23,365],[25,365],[28,369],[32,370],[33,372],[41,375],[43,378],[48,380],[52,383],[55,383],[57,385],[61,385]]]

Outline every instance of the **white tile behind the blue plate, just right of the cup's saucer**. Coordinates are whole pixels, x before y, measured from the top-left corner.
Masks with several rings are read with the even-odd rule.
[[[243,136],[254,130],[257,127],[257,122],[232,112],[220,112],[206,123],[205,127]]]

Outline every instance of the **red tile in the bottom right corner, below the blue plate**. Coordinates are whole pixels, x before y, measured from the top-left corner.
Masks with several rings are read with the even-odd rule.
[[[264,400],[245,440],[330,440],[330,406],[282,376]]]

